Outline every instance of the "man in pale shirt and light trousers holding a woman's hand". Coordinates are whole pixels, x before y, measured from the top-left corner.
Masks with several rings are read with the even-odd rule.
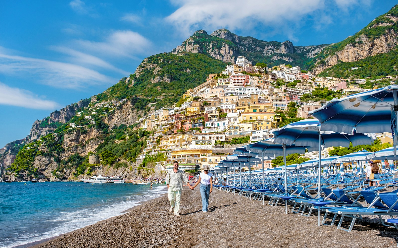
[[[174,208],[174,215],[179,216],[179,201],[181,200],[182,182],[186,183],[190,189],[193,187],[189,184],[187,176],[183,171],[178,169],[178,161],[174,161],[174,167],[168,171],[166,176],[166,185],[168,188],[168,198],[170,201],[170,213]]]

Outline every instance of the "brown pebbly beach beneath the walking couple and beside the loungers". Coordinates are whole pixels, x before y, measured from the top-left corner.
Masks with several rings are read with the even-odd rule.
[[[240,198],[214,190],[209,212],[201,211],[199,190],[184,187],[179,217],[169,212],[167,196],[150,200],[129,213],[101,221],[65,235],[22,247],[396,247],[398,232],[383,227],[375,216],[357,219],[347,233],[317,225],[310,217],[285,214],[279,204]],[[291,210],[291,206],[289,206]],[[390,218],[390,217],[386,217]]]

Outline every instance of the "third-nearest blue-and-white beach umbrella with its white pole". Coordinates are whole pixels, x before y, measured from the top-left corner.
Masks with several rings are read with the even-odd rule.
[[[287,170],[286,170],[286,154],[305,152],[305,147],[295,146],[295,144],[287,145],[277,143],[273,138],[261,140],[246,146],[246,150],[261,153],[262,156],[283,156],[283,164],[285,165],[285,194],[287,194]],[[287,214],[287,201],[285,201],[285,212]]]

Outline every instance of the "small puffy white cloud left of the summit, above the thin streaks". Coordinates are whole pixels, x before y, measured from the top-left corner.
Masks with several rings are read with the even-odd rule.
[[[137,53],[145,53],[152,43],[139,33],[126,30],[115,31],[103,42],[77,40],[78,46],[100,54],[119,57],[135,57]]]

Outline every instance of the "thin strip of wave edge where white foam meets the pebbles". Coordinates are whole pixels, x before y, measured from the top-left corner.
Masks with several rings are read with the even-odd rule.
[[[35,241],[35,242],[30,242],[30,243],[27,243],[27,244],[21,244],[21,245],[18,245],[18,246],[12,246],[11,248],[38,248],[38,247],[41,247],[42,244],[45,244],[45,243],[47,243],[47,242],[51,242],[51,241],[56,240],[56,239],[58,239],[58,238],[62,238],[64,235],[71,235],[71,234],[73,234],[73,233],[76,232],[76,231],[80,231],[80,230],[85,229],[85,228],[87,228],[87,227],[90,227],[90,226],[92,226],[92,225],[101,224],[101,223],[106,222],[106,221],[109,221],[109,220],[111,220],[111,219],[113,219],[113,218],[122,216],[122,215],[124,215],[124,214],[126,214],[126,213],[129,213],[129,212],[131,212],[131,211],[133,211],[133,210],[139,208],[139,207],[140,207],[141,205],[143,205],[143,204],[150,204],[150,202],[152,202],[152,201],[154,201],[154,200],[156,200],[156,199],[158,199],[158,198],[162,198],[163,196],[166,196],[166,197],[167,197],[167,193],[161,194],[161,195],[159,195],[158,197],[153,198],[153,199],[150,199],[150,200],[144,200],[144,201],[137,202],[137,205],[136,205],[136,206],[133,206],[133,207],[131,207],[131,208],[128,208],[127,210],[124,210],[124,211],[120,212],[119,215],[110,217],[110,218],[108,218],[108,219],[104,219],[104,220],[102,220],[102,221],[98,221],[98,222],[96,222],[96,223],[94,223],[94,224],[87,225],[87,226],[85,226],[85,227],[82,227],[82,228],[79,228],[79,229],[76,229],[76,230],[73,230],[73,231],[70,231],[70,232],[67,232],[67,233],[63,233],[63,234],[60,234],[60,235],[57,235],[57,236],[54,236],[54,237],[51,237],[51,238],[45,238],[45,239],[42,239],[42,240],[37,240],[37,241]]]

